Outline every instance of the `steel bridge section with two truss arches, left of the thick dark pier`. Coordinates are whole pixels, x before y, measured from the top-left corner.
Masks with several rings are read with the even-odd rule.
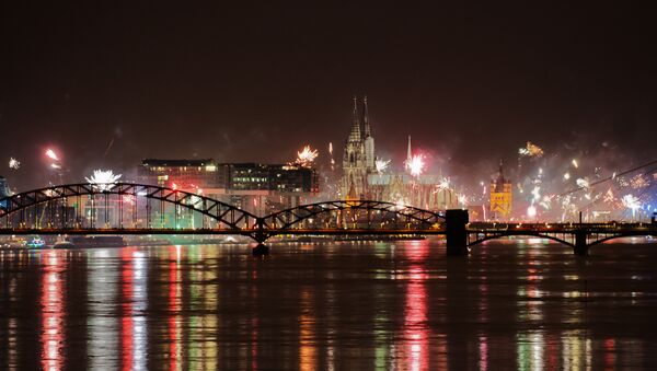
[[[203,220],[191,223],[197,213]],[[171,220],[173,216],[173,220]],[[183,220],[186,227],[180,227]],[[168,187],[67,184],[0,199],[2,234],[440,234],[438,212],[372,200],[301,205],[258,217],[214,198]]]

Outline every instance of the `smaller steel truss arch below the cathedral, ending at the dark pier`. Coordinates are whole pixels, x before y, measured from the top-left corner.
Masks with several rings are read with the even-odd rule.
[[[301,205],[278,212],[270,213],[262,219],[263,230],[289,230],[311,219],[327,217],[331,215],[353,213],[360,217],[367,215],[367,219],[349,221],[334,220],[343,228],[348,223],[356,225],[371,225],[372,222],[392,221],[404,219],[412,228],[433,228],[445,222],[445,217],[438,212],[424,210],[411,206],[400,206],[392,202],[373,200],[336,200]],[[315,225],[318,228],[318,225]]]

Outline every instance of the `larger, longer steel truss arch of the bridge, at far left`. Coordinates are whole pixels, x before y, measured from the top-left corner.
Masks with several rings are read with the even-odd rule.
[[[27,190],[0,199],[0,218],[9,218],[22,210],[49,201],[81,196],[132,196],[147,200],[159,200],[209,217],[229,229],[251,229],[257,217],[232,205],[216,199],[155,185],[113,183],[93,185],[88,183],[67,184]]]

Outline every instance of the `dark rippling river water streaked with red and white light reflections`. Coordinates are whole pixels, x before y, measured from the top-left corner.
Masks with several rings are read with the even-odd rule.
[[[2,251],[0,369],[657,368],[657,243]]]

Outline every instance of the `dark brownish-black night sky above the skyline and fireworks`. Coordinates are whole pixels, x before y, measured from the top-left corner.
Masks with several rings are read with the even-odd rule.
[[[354,94],[397,164],[407,135],[454,173],[527,140],[657,158],[655,12],[545,3],[7,1],[0,174],[44,184],[47,147],[71,181],[143,158],[284,162],[304,143],[326,159],[328,141],[337,160]]]

